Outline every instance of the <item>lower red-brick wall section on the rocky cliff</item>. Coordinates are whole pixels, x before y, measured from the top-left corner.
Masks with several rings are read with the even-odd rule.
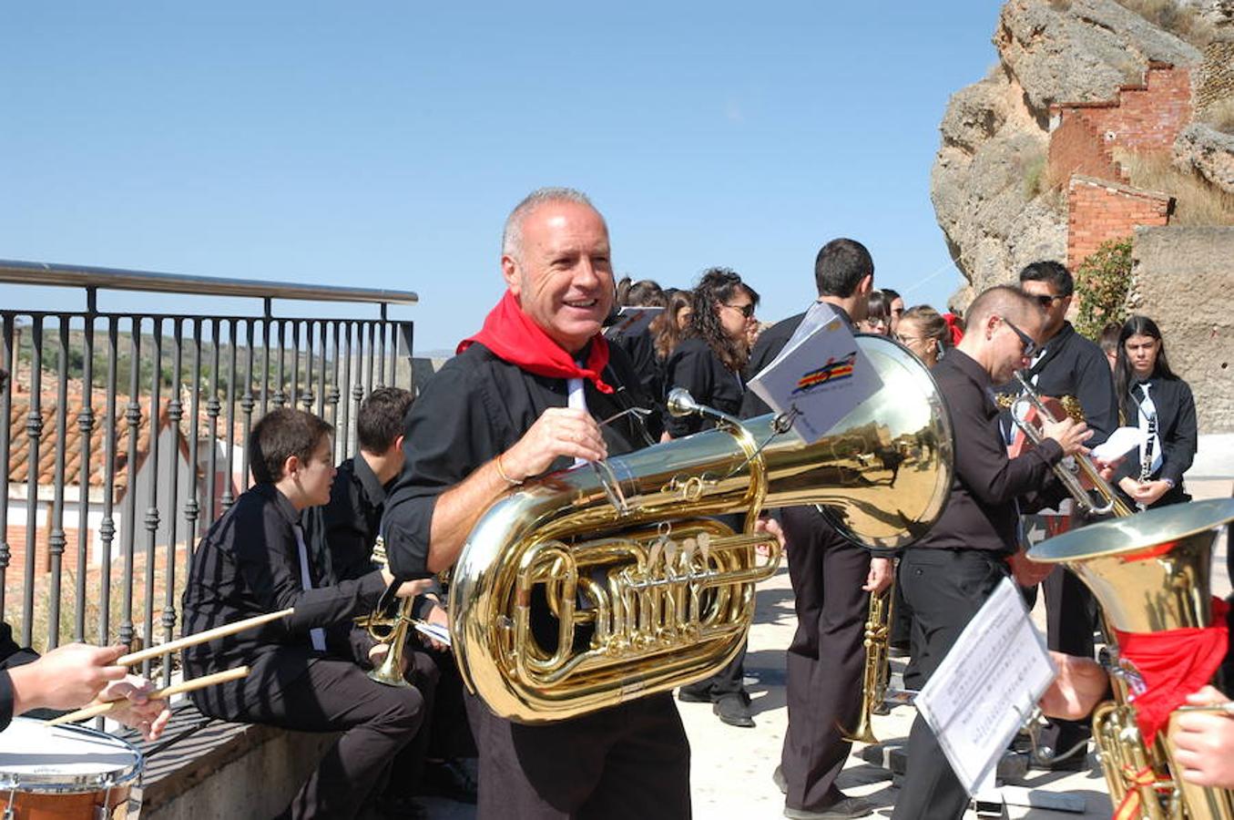
[[[1075,270],[1102,242],[1140,225],[1170,221],[1170,198],[1118,183],[1074,175],[1067,185],[1067,268]]]

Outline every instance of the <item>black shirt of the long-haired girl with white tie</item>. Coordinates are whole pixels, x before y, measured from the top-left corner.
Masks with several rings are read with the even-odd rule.
[[[1175,488],[1167,495],[1177,496],[1182,494],[1182,474],[1191,468],[1191,462],[1196,458],[1198,443],[1196,430],[1196,399],[1191,394],[1191,387],[1178,378],[1149,379],[1149,398],[1153,399],[1153,408],[1157,416],[1157,437],[1161,441],[1161,467],[1156,473],[1149,475],[1151,480],[1167,479],[1174,482]],[[1125,422],[1133,427],[1140,424],[1140,401],[1144,394],[1139,382],[1132,382],[1127,395],[1123,396]],[[1155,461],[1155,458],[1154,458]],[[1127,453],[1127,458],[1116,472],[1116,484],[1118,479],[1130,475],[1140,478],[1140,450],[1134,448]],[[1190,498],[1190,496],[1188,496]],[[1161,500],[1165,500],[1162,498]],[[1174,500],[1186,500],[1174,498]]]

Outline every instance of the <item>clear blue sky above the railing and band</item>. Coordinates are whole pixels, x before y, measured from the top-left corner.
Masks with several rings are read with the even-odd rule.
[[[997,15],[975,0],[6,4],[0,258],[415,290],[391,315],[416,320],[418,349],[448,348],[501,293],[505,215],[554,184],[606,215],[618,272],[684,287],[729,266],[763,319],[811,298],[835,236],[870,247],[876,284],[942,305],[960,274],[929,203],[938,122],[996,62]],[[5,306],[49,300],[81,304],[0,285]]]

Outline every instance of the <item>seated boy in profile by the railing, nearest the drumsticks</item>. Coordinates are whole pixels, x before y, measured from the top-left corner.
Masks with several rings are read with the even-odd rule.
[[[421,693],[370,680],[365,667],[385,645],[353,626],[394,580],[373,571],[320,585],[300,529],[306,508],[329,500],[332,427],[302,410],[265,415],[248,440],[257,484],[201,540],[184,592],[184,634],[289,606],[295,613],[184,651],[186,677],[237,666],[241,680],[190,697],[204,714],[342,736],[322,757],[281,818],[354,818],[380,792],[390,759],[416,735]],[[400,598],[424,582],[401,584]]]

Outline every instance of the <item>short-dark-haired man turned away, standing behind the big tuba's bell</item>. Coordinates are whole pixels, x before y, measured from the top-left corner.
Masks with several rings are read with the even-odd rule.
[[[828,304],[851,328],[865,317],[874,283],[870,252],[854,240],[832,240],[814,259],[818,301]],[[759,337],[747,368],[753,377],[792,337],[806,314],[771,326]],[[742,415],[770,412],[748,391]],[[874,810],[864,798],[835,787],[851,743],[840,726],[856,725],[861,704],[861,640],[868,594],[891,583],[891,556],[871,558],[869,550],[842,537],[813,506],[781,510],[789,543],[797,631],[789,645],[789,727],[775,779],[785,792],[785,816],[800,819],[860,818]]]

